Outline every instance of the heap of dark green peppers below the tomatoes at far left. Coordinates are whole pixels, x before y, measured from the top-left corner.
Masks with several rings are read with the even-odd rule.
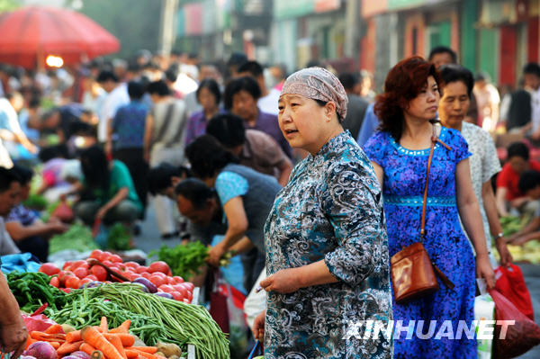
[[[66,293],[53,287],[49,282],[49,275],[40,272],[7,274],[9,288],[14,293],[21,310],[27,313],[32,313],[45,303],[49,303],[49,310],[63,307]]]

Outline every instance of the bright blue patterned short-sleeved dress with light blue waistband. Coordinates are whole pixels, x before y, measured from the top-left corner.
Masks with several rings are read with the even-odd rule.
[[[429,173],[427,236],[424,246],[433,262],[455,283],[417,301],[396,304],[394,320],[424,320],[423,333],[428,333],[430,320],[437,320],[438,329],[444,320],[452,320],[454,333],[458,320],[471,326],[474,314],[475,261],[473,251],[461,229],[455,202],[455,167],[470,157],[467,143],[456,130],[442,128],[439,136],[448,150],[437,143]],[[365,144],[365,153],[384,170],[383,200],[387,220],[388,247],[392,257],[402,247],[419,240],[422,196],[426,184],[429,148],[409,150],[401,147],[389,133],[378,132]],[[481,219],[479,219],[481,220]],[[394,337],[396,358],[475,358],[476,340],[449,340],[446,337],[419,339],[407,333]]]

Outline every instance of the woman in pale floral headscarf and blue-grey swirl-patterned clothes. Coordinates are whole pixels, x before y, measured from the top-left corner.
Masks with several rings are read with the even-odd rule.
[[[310,155],[266,220],[267,310],[254,334],[265,358],[390,358],[390,338],[358,330],[392,319],[392,296],[381,187],[341,126],[347,94],[329,71],[305,68],[286,80],[279,110],[284,137]]]

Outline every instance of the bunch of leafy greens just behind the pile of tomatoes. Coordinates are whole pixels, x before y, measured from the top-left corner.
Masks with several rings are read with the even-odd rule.
[[[160,261],[166,262],[174,275],[182,278],[191,278],[195,274],[200,274],[200,268],[205,264],[208,257],[208,247],[201,242],[189,242],[176,247],[163,247],[149,253],[149,256],[156,256]]]

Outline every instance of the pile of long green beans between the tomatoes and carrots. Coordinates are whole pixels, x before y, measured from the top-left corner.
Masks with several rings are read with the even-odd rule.
[[[129,311],[132,317],[138,315],[152,319],[146,324],[141,323],[145,328],[145,333],[158,332],[146,339],[144,336],[140,337],[149,346],[155,345],[158,339],[175,342],[184,347],[192,344],[195,346],[197,358],[228,359],[230,357],[229,340],[217,323],[211,319],[208,311],[200,305],[186,304],[183,301],[173,301],[144,293],[140,291],[139,286],[128,283],[112,283],[96,288],[86,288],[82,290],[82,295],[80,291],[72,293],[76,295],[76,292],[79,292],[79,296],[86,297],[88,301],[101,301],[101,306],[117,306],[121,310]],[[103,300],[108,302],[103,302]],[[133,321],[133,318],[129,319]],[[161,330],[155,328],[156,325]],[[136,325],[132,323],[130,330],[139,336],[135,327]]]

